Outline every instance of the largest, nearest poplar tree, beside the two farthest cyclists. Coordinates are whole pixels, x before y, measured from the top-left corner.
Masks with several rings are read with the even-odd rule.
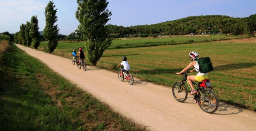
[[[85,40],[88,60],[96,65],[104,50],[112,44],[106,23],[112,15],[107,8],[107,0],[77,0],[76,18],[80,22],[78,29]]]

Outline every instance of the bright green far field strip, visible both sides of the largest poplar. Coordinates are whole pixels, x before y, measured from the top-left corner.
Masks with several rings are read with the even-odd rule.
[[[131,47],[149,47],[157,45],[174,45],[174,44],[188,44],[194,42],[207,42],[215,40],[225,39],[237,39],[241,37],[247,37],[247,35],[211,35],[209,36],[180,36],[173,35],[171,37],[158,37],[158,38],[125,38],[121,40],[112,40],[112,45],[109,49],[131,48]],[[84,42],[63,42],[57,46],[58,52],[70,52],[70,49],[78,49],[84,47]],[[39,46],[40,50],[46,49],[45,42],[42,42]]]

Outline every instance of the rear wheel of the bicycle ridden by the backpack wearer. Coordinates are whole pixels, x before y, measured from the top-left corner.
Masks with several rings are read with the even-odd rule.
[[[214,92],[209,90],[202,90],[202,94],[198,96],[198,104],[200,108],[206,113],[214,113],[219,106],[219,101]]]

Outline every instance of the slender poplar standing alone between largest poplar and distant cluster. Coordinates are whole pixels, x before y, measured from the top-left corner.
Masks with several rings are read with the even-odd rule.
[[[45,29],[43,29],[43,36],[46,39],[47,51],[53,52],[58,45],[57,35],[59,33],[57,22],[57,9],[52,1],[47,4],[45,8]]]

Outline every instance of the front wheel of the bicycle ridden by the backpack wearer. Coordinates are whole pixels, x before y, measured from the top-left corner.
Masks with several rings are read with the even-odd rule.
[[[181,82],[176,82],[173,85],[173,96],[178,102],[184,102],[187,99],[188,90],[183,82],[182,85],[180,85],[180,83]]]

